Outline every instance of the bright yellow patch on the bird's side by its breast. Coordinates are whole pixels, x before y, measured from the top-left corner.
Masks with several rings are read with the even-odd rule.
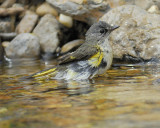
[[[100,48],[98,48],[98,52],[95,55],[93,55],[88,60],[88,62],[92,67],[98,67],[101,64],[102,59],[103,59],[103,52],[101,51]]]

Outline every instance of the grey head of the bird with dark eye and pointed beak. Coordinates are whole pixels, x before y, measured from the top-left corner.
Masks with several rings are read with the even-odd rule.
[[[89,28],[86,33],[86,40],[102,40],[117,28],[119,28],[119,26],[111,26],[104,21],[99,21]]]

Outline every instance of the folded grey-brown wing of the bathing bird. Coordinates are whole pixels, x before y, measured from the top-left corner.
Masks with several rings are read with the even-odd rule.
[[[76,60],[88,59],[98,51],[98,47],[90,45],[81,45],[75,52],[68,53],[60,57],[59,64],[65,64]]]

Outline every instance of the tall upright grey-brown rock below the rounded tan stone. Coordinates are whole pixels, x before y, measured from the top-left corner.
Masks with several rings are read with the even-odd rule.
[[[59,24],[54,16],[47,14],[41,18],[33,33],[39,37],[43,52],[55,52],[59,45],[59,31]]]

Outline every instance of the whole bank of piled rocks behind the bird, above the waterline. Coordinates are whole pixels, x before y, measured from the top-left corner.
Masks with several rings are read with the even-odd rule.
[[[114,58],[159,60],[159,8],[159,0],[0,0],[1,60],[55,59],[74,51],[100,18],[120,25],[110,36]]]

